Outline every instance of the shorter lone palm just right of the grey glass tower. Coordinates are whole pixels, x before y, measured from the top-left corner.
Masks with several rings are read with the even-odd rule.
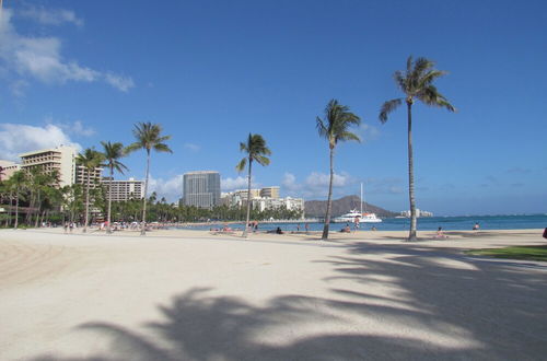
[[[252,133],[248,133],[246,143],[240,142],[240,151],[246,153],[247,155],[235,166],[237,172],[243,172],[248,161],[247,217],[245,219],[245,230],[243,231],[243,236],[246,237],[251,216],[251,171],[253,167],[253,161],[256,161],[260,165],[270,164],[270,160],[265,155],[270,155],[271,151],[268,147],[266,147],[266,140],[264,140],[263,136]]]

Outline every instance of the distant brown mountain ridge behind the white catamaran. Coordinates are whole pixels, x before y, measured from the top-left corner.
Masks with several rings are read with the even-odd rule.
[[[344,213],[349,212],[352,209],[360,209],[359,206],[359,197],[358,196],[347,196],[340,199],[333,200],[333,217],[338,217]],[[366,205],[366,207],[365,207]],[[366,208],[366,211],[376,213],[377,217],[395,217],[398,213],[388,211],[386,209],[380,208],[374,205],[363,202],[363,212]],[[325,217],[325,212],[327,211],[327,201],[326,200],[307,200],[305,202],[305,214],[310,218]]]

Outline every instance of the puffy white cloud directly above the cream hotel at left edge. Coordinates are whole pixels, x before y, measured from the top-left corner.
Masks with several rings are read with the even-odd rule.
[[[20,153],[61,144],[82,149],[60,127],[53,124],[44,127],[0,124],[0,159],[19,162]]]

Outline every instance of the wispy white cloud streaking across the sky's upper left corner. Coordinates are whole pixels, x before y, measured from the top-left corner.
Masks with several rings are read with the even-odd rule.
[[[0,18],[0,38],[2,39],[0,42],[0,68],[3,73],[36,79],[47,84],[62,84],[68,81],[104,81],[123,92],[135,86],[131,78],[101,72],[80,66],[74,60],[63,59],[59,38],[21,35],[14,28],[11,19],[11,10],[4,9]],[[67,19],[70,16],[67,15]],[[21,88],[19,90],[21,93]]]

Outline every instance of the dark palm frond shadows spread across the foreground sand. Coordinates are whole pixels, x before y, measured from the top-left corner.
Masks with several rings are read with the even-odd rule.
[[[106,352],[34,360],[528,360],[545,354],[540,335],[547,323],[539,312],[547,295],[542,286],[545,273],[524,277],[524,270],[489,263],[446,266],[438,261],[440,254],[427,257],[423,252],[369,245],[349,248],[347,256],[317,260],[334,268],[334,276],[324,280],[331,291],[328,299],[284,295],[258,306],[211,295],[214,290],[191,289],[160,305],[162,317],[138,330],[104,322],[77,329],[105,336]],[[391,254],[389,261],[362,257],[385,253]],[[380,282],[381,276],[391,279],[382,282],[403,290],[404,301],[368,292],[366,286]],[[526,306],[520,306],[520,301]],[[383,319],[416,334],[400,337],[328,327],[349,317]],[[439,345],[419,336],[423,330],[449,340],[465,335],[476,342]]]

